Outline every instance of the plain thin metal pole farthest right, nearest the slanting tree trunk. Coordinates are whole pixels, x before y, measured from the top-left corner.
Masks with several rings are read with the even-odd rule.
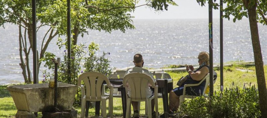
[[[220,86],[223,86],[223,0],[220,0]]]

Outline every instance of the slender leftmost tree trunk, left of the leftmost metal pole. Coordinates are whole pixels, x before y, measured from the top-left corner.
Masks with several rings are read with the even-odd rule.
[[[23,78],[24,78],[24,82],[25,83],[28,83],[28,80],[27,80],[27,74],[26,74],[26,67],[25,67],[25,63],[23,61],[23,56],[22,56],[22,36],[21,36],[21,26],[19,25],[19,57],[20,57],[20,62],[19,65],[20,65],[20,68],[22,69],[22,75],[23,75]]]

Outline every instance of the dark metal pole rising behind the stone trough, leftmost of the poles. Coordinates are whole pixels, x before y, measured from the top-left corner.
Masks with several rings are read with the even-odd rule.
[[[33,83],[38,83],[37,49],[36,49],[36,1],[32,0],[32,53],[33,53]]]

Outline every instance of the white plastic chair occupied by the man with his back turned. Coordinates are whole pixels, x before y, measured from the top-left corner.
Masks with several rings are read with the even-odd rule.
[[[129,90],[127,88],[127,83],[130,86]],[[144,90],[148,87],[149,83],[155,91],[154,96],[146,98],[147,94]],[[146,101],[146,106],[148,108],[148,117],[152,118],[152,99],[154,99],[155,101],[156,117],[158,117],[158,85],[155,85],[153,79],[150,76],[143,73],[130,73],[124,77],[123,87],[125,87],[125,90],[131,91],[131,96],[128,96],[127,99],[126,118],[130,118],[131,116],[131,101]]]

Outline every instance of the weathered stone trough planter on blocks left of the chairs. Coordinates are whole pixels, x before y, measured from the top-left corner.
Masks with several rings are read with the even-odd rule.
[[[60,110],[72,108],[76,85],[58,82],[57,105]],[[54,89],[48,83],[8,86],[17,110],[28,112],[49,112],[54,110]]]

